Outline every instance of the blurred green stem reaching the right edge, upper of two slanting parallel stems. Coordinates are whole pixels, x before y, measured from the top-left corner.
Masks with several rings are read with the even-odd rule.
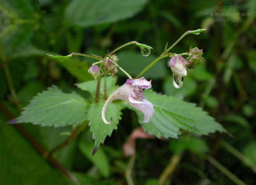
[[[238,159],[240,159],[244,164],[249,166],[254,173],[256,173],[256,165],[247,158],[244,154],[240,153],[238,150],[236,150],[233,146],[225,142],[224,140],[221,140],[221,145],[231,154],[235,155]]]

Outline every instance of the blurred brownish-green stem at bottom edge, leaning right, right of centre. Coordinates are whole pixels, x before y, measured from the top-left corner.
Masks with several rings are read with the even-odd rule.
[[[164,171],[160,175],[158,185],[165,185],[168,178],[173,174],[177,165],[180,163],[183,153],[174,154],[171,156],[169,164],[165,167]]]

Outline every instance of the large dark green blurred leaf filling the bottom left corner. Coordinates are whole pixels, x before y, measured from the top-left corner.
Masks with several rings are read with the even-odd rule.
[[[0,159],[2,185],[68,184],[12,125],[3,122],[0,122]]]

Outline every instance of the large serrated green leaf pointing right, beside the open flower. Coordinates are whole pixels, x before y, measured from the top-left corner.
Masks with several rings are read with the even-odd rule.
[[[144,94],[155,108],[155,114],[149,123],[142,123],[143,129],[149,134],[154,134],[158,138],[168,138],[177,137],[181,134],[181,129],[198,135],[215,131],[225,132],[222,125],[216,123],[213,117],[207,115],[202,108],[196,107],[194,103],[152,91],[146,91]],[[143,118],[140,112],[139,117]]]

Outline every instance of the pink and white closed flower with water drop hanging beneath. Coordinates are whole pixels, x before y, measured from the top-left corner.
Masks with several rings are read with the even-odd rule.
[[[174,56],[168,62],[173,73],[172,83],[175,88],[181,88],[183,85],[183,77],[187,76],[186,63],[185,59],[181,56]]]

